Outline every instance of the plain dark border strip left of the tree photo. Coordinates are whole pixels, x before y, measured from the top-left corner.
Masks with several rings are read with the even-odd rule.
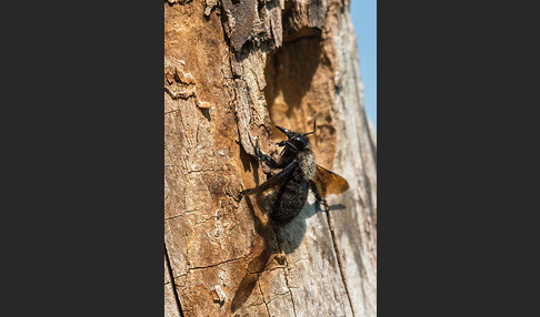
[[[162,316],[162,6],[4,8],[4,308]]]

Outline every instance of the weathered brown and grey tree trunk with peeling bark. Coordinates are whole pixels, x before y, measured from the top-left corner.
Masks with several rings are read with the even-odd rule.
[[[166,316],[376,316],[376,136],[349,2],[164,3]],[[241,191],[267,178],[274,124],[309,132],[350,188],[273,225]]]

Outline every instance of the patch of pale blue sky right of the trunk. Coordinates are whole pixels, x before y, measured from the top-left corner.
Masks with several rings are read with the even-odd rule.
[[[377,131],[377,0],[351,0],[366,112]]]

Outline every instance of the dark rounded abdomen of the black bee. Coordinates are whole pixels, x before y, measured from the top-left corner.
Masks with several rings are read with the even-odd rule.
[[[270,217],[279,223],[288,223],[294,218],[308,198],[308,183],[289,181],[281,187]]]

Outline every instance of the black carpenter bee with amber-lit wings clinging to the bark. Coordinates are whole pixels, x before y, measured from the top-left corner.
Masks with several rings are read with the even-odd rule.
[[[266,155],[256,145],[258,158],[267,166],[281,171],[259,186],[242,193],[262,194],[269,216],[277,223],[287,224],[300,213],[308,198],[309,188],[317,201],[322,201],[327,208],[323,200],[327,194],[339,194],[349,188],[349,183],[343,177],[316,163],[308,139],[309,134],[314,133],[316,120],[313,114],[313,131],[308,133],[293,132],[276,125],[288,137],[278,143],[279,146],[284,146],[278,161]]]

